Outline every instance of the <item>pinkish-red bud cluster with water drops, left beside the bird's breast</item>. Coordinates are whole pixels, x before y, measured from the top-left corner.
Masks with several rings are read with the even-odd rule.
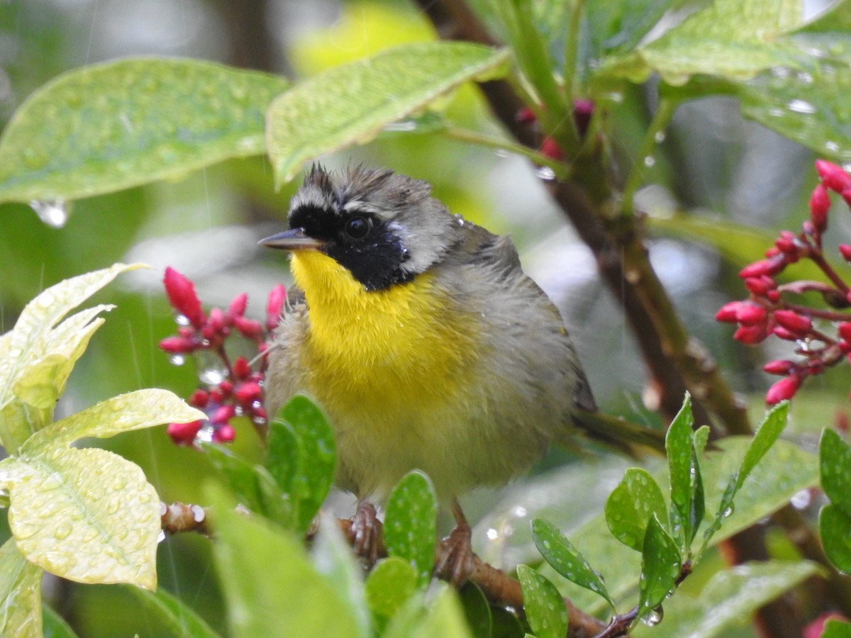
[[[206,420],[185,424],[169,424],[168,435],[175,443],[192,445],[198,439],[229,442],[234,430],[231,419],[245,416],[257,428],[266,425],[263,407],[263,378],[266,372],[266,334],[277,327],[281,318],[286,290],[272,289],[266,304],[266,325],[245,316],[248,295],[238,294],[227,310],[213,308],[204,313],[194,284],[174,268],[168,267],[163,278],[168,302],[174,308],[177,334],[160,341],[160,348],[182,363],[186,355],[212,356],[213,367],[204,369],[200,377],[207,386],[196,390],[189,399],[192,406],[207,414]],[[225,349],[232,333],[256,345],[258,356],[249,362],[238,356],[231,362]],[[256,364],[254,369],[253,364]]]

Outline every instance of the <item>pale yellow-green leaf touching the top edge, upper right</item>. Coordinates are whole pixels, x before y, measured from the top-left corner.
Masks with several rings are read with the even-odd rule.
[[[802,16],[800,0],[715,0],[621,63],[623,74],[643,82],[657,71],[666,83],[681,85],[694,75],[744,80],[774,66],[797,66],[776,38]]]

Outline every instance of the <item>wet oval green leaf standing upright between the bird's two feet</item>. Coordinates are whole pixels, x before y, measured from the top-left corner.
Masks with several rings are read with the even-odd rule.
[[[420,589],[431,581],[437,525],[437,501],[428,477],[414,470],[403,476],[387,499],[384,543],[387,554],[409,561]]]

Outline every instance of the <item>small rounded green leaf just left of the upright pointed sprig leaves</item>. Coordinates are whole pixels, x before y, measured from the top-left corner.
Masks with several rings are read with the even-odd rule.
[[[630,468],[606,499],[606,523],[614,538],[642,551],[644,533],[653,516],[668,523],[668,506],[662,490],[647,470]]]

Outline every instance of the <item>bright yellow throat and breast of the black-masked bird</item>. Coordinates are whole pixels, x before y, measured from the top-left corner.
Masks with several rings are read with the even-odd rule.
[[[368,291],[317,251],[295,251],[295,282],[305,291],[310,331],[301,359],[312,393],[330,413],[376,430],[446,406],[474,373],[477,355],[465,316],[425,273]],[[427,419],[426,419],[427,420]]]

